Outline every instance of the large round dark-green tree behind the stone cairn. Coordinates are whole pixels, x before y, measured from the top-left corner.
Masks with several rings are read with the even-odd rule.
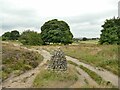
[[[72,43],[73,35],[68,24],[57,19],[45,22],[41,27],[41,38],[44,43]]]

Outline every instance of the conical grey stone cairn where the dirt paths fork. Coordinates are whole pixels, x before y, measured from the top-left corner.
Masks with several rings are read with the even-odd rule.
[[[67,61],[64,55],[64,52],[58,48],[54,50],[53,55],[48,64],[48,68],[56,71],[66,71],[67,70]]]

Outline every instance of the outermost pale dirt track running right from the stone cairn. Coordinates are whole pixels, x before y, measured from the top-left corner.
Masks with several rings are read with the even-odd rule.
[[[70,61],[72,61],[72,62],[74,62],[78,65],[83,65],[84,67],[94,71],[95,73],[100,75],[105,81],[110,81],[114,86],[118,87],[118,76],[117,75],[114,75],[113,73],[111,73],[111,72],[109,72],[105,69],[101,69],[101,70],[96,69],[91,65],[79,62],[78,59],[75,59],[75,58],[72,58],[72,57],[69,57],[69,56],[66,56],[66,58],[67,58],[67,60],[70,60]]]

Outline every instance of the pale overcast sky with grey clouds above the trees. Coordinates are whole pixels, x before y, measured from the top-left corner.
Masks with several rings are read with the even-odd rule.
[[[0,0],[0,35],[7,31],[41,32],[48,20],[63,20],[74,38],[100,37],[106,19],[118,16],[119,0]]]

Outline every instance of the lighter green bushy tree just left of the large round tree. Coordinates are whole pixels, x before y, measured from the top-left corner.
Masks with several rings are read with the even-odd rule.
[[[30,31],[30,30],[24,31],[21,34],[19,40],[24,45],[42,45],[43,44],[41,35],[37,32]]]

